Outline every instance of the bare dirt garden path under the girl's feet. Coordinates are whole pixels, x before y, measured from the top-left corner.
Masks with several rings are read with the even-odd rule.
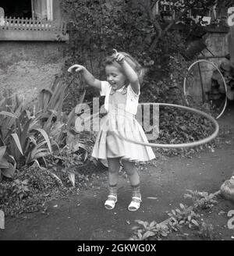
[[[119,194],[115,209],[104,208],[107,196],[107,172],[98,174],[94,186],[80,190],[76,196],[51,201],[47,211],[7,217],[5,229],[0,229],[0,240],[128,240],[133,235],[135,220],[162,222],[168,212],[180,203],[190,204],[183,197],[186,190],[215,193],[234,171],[234,104],[229,103],[225,114],[218,119],[222,143],[206,148],[192,158],[164,157],[157,165],[146,165],[140,170],[143,203],[137,212],[129,212],[127,205],[131,190],[126,175],[119,175]],[[234,204],[223,198],[203,218],[214,226],[218,240],[233,240],[234,229],[229,229],[228,212]],[[172,233],[167,240],[200,240],[190,233]]]

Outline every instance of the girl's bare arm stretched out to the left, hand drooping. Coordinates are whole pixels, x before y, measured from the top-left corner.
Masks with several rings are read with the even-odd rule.
[[[96,79],[84,66],[75,64],[70,66],[67,71],[71,73],[73,69],[75,69],[76,72],[80,72],[86,84],[101,90],[101,81]]]

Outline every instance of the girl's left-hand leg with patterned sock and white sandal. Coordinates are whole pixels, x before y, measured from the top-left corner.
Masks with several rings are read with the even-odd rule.
[[[117,201],[117,184],[119,180],[119,158],[108,158],[108,180],[109,180],[109,195],[105,201],[105,208],[112,210],[115,208]]]

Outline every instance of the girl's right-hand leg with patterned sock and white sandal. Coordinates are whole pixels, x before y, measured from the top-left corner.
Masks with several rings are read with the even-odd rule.
[[[122,164],[129,177],[129,181],[131,183],[131,187],[133,190],[133,195],[132,195],[133,199],[132,199],[132,202],[129,204],[128,209],[129,211],[137,211],[137,209],[140,207],[140,202],[141,202],[140,176],[137,172],[134,162],[123,160]]]

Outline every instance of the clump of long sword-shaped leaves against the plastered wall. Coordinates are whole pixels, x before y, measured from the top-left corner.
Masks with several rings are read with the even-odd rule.
[[[12,178],[16,168],[31,165],[46,166],[46,157],[69,144],[74,131],[75,108],[69,115],[62,112],[67,85],[56,76],[50,87],[41,90],[33,109],[24,105],[20,98],[12,98],[10,92],[0,101],[0,179]],[[85,95],[80,98],[82,103]],[[79,140],[70,140],[76,150],[83,148]],[[71,145],[69,144],[69,147]]]

